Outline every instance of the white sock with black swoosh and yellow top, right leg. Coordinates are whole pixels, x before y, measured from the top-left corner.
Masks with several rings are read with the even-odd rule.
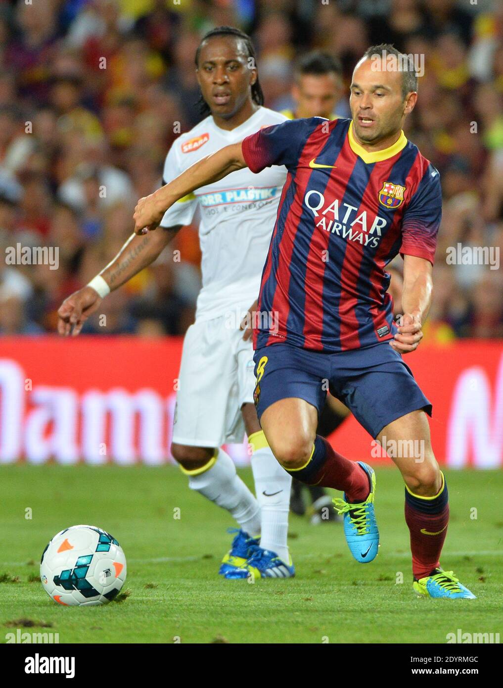
[[[254,447],[254,440],[257,439],[258,433],[250,436],[249,442],[252,447]],[[265,441],[265,438],[263,439]],[[260,445],[262,442],[259,440],[257,444]],[[289,563],[287,537],[291,475],[276,461],[269,446],[255,449],[252,455],[252,471],[258,504],[260,504],[262,524],[260,547],[276,552],[280,559]]]

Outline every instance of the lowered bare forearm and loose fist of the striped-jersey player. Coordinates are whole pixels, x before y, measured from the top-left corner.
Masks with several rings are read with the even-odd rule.
[[[403,316],[398,334],[390,344],[399,354],[417,349],[423,338],[423,322],[432,303],[432,264],[424,258],[403,257]]]

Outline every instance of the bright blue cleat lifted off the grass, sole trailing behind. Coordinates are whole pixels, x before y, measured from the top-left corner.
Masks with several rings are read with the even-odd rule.
[[[352,504],[346,502],[346,493],[343,499],[333,499],[335,510],[338,514],[344,514],[344,535],[351,554],[360,563],[368,563],[377,557],[379,550],[379,529],[375,519],[375,473],[374,470],[363,461],[358,464],[368,475],[370,493],[365,502]]]

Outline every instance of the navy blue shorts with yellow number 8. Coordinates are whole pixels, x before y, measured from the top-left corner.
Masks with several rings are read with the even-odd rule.
[[[267,407],[289,397],[306,400],[320,413],[327,388],[373,438],[405,413],[424,409],[432,415],[432,405],[388,341],[338,354],[271,344],[256,350],[254,361],[259,420]]]

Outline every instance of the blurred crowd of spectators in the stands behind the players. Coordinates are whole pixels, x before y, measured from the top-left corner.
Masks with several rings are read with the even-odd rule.
[[[425,56],[405,133],[440,171],[444,209],[427,336],[503,336],[503,270],[449,246],[503,248],[500,0],[0,0],[0,334],[52,332],[63,299],[131,235],[135,202],[199,121],[194,54],[217,25],[252,35],[266,105],[293,107],[293,63],[337,55],[346,95],[369,45]],[[8,247],[57,246],[58,269]],[[179,250],[181,261],[173,261]],[[199,290],[197,228],[105,302],[87,332],[183,334]]]

